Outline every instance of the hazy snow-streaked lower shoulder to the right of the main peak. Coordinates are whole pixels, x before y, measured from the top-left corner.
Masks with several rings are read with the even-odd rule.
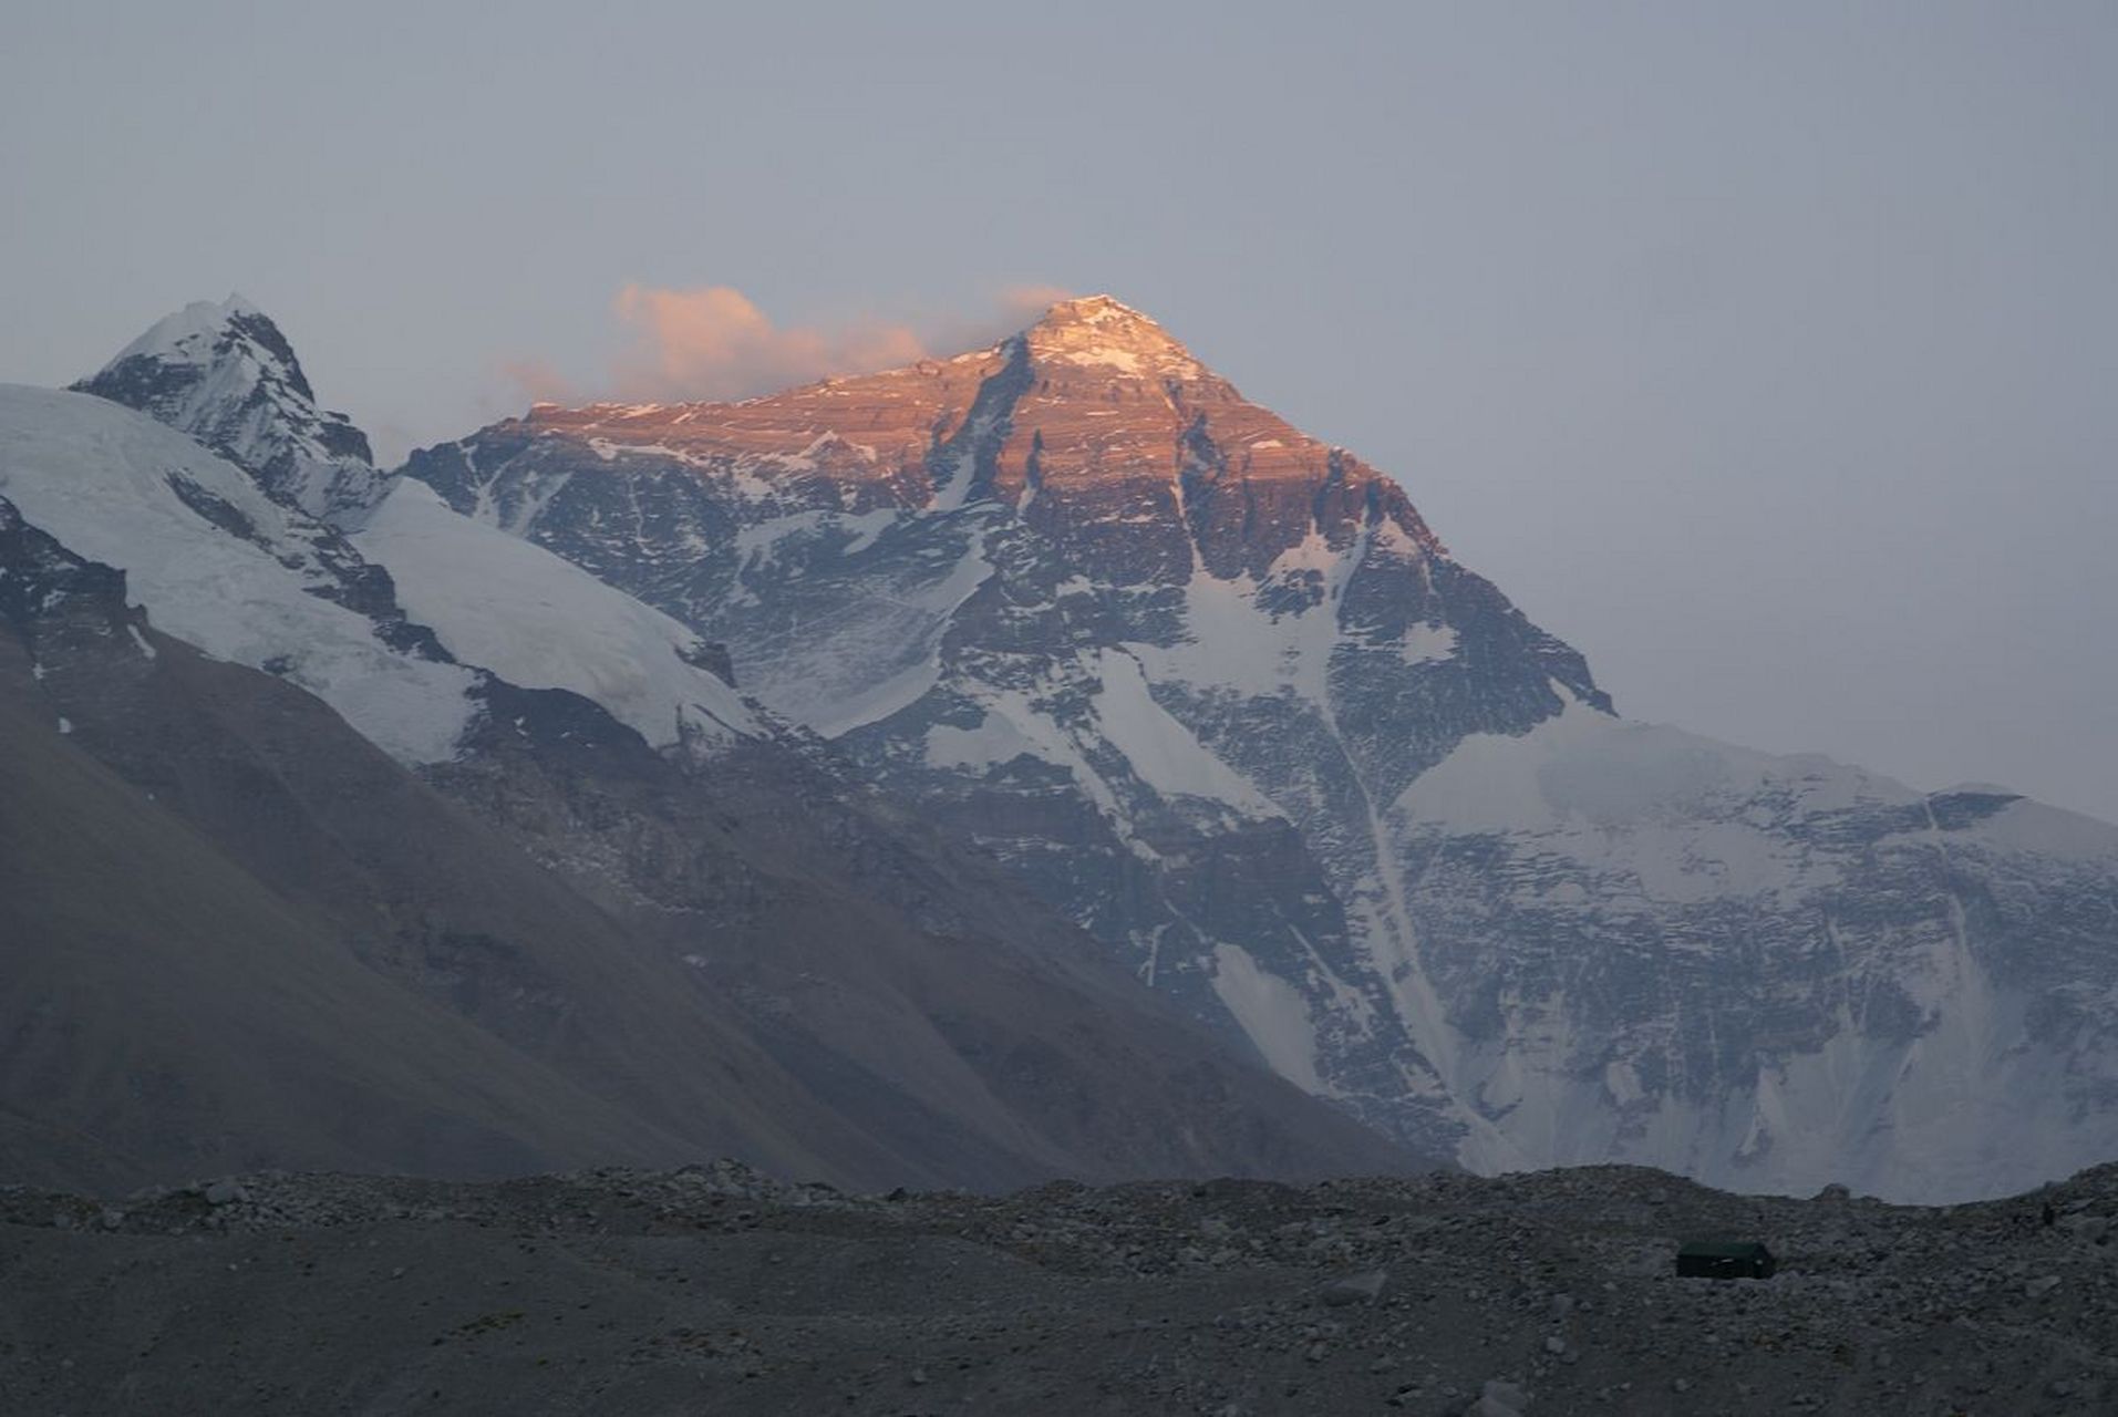
[[[2118,828],[1578,707],[1389,826],[1483,1169],[1942,1201],[2118,1154]]]

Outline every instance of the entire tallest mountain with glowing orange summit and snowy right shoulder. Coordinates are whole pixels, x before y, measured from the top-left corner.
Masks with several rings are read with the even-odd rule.
[[[2063,1002],[2110,981],[2103,828],[1622,724],[1396,483],[1106,297],[739,405],[538,407],[407,472],[726,644],[1425,1148],[1906,1197],[2118,1148],[2107,1029]],[[1953,1089],[2008,1140],[1953,1135]]]

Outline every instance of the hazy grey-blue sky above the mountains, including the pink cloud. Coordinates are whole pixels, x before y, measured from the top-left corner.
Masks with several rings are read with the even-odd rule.
[[[400,451],[1040,288],[1396,472],[1633,716],[2118,820],[2110,0],[76,2],[0,42],[0,379],[241,290]]]

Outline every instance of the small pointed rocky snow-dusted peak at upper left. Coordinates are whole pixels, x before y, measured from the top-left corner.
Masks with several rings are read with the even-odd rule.
[[[189,432],[273,500],[341,530],[388,485],[366,434],[318,407],[286,335],[239,294],[165,316],[74,390]]]

